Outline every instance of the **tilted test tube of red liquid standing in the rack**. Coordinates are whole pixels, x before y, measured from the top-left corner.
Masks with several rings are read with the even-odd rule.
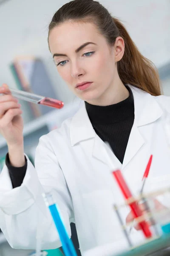
[[[115,177],[115,179],[116,179],[116,181],[117,181],[117,183],[119,185],[119,188],[122,191],[122,194],[124,195],[124,198],[125,199],[131,198],[132,194],[130,192],[130,189],[127,186],[127,183],[124,180],[124,177],[122,176],[121,171],[120,170],[116,170],[116,171],[114,171],[112,173],[113,173],[113,176]],[[137,202],[130,203],[129,207],[130,207],[130,209],[132,211],[132,214],[133,214],[134,218],[137,218],[137,217],[143,215],[141,209],[139,208],[139,205],[137,204]],[[141,228],[141,230],[144,233],[144,236],[146,238],[152,237],[152,233],[150,231],[149,224],[147,224],[146,221],[139,222],[138,225]]]

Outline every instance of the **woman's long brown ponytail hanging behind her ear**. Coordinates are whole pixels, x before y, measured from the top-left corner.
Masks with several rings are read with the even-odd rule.
[[[131,84],[153,96],[160,95],[159,74],[155,65],[139,52],[122,23],[117,18],[113,18],[113,22],[119,29],[119,36],[125,42],[123,58],[117,63],[123,84]]]

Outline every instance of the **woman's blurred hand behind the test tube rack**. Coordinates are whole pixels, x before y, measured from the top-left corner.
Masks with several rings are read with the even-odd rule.
[[[164,206],[163,206],[158,200],[156,200],[156,199],[153,200],[153,203],[154,203],[154,209],[156,209],[156,210],[166,209],[166,207],[164,207]],[[138,204],[138,206],[139,206],[139,208],[141,209],[141,211],[142,211],[143,214],[147,212],[147,210],[146,210],[146,208],[145,208],[145,204]],[[133,221],[133,220],[134,220],[133,213],[130,211],[130,213],[129,213],[129,214],[127,215],[127,217],[126,217],[126,224],[129,223],[129,222],[131,222],[131,221]],[[151,223],[150,221],[147,221],[147,223],[148,223],[150,226],[153,225],[153,223]],[[134,226],[134,228],[135,228],[136,230],[141,230],[141,227],[140,227],[138,224],[136,224],[136,225]]]

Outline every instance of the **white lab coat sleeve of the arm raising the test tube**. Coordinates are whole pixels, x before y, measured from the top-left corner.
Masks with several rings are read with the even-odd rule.
[[[57,230],[45,205],[42,193],[51,192],[57,202],[68,235],[74,219],[71,195],[65,177],[48,139],[40,138],[35,155],[35,168],[28,159],[20,187],[12,189],[7,166],[0,174],[0,228],[13,248],[34,249],[36,238],[42,249],[61,246]]]

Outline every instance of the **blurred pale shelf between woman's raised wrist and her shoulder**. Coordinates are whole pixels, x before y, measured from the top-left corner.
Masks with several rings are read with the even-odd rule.
[[[50,121],[54,120],[54,118],[64,121],[64,119],[68,118],[69,116],[72,116],[75,113],[75,111],[77,110],[77,106],[77,104],[68,104],[65,105],[62,109],[54,109],[50,113],[47,113],[43,116],[34,119],[31,122],[28,122],[26,125],[24,125],[23,136],[25,137],[29,134],[32,134],[35,131],[39,130],[40,128],[48,125]],[[0,148],[3,148],[6,145],[6,140],[3,137],[0,137]]]

